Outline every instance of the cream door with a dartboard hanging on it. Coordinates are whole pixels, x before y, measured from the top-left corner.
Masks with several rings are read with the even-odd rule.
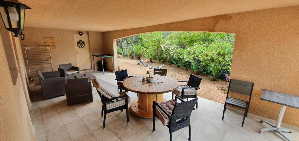
[[[78,67],[80,70],[91,69],[87,35],[74,34],[74,43]]]

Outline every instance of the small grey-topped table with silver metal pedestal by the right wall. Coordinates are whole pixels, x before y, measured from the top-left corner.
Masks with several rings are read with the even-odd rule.
[[[281,105],[281,109],[280,109],[279,116],[277,118],[276,125],[272,125],[271,123],[261,120],[260,121],[261,123],[265,122],[265,123],[269,124],[271,127],[260,129],[260,133],[262,133],[264,131],[277,131],[284,138],[286,138],[286,140],[291,141],[291,139],[289,137],[287,137],[285,134],[283,134],[283,132],[292,133],[292,131],[288,130],[288,129],[281,129],[280,124],[283,119],[283,115],[286,110],[286,106],[299,109],[299,96],[289,95],[289,94],[285,94],[285,93],[279,93],[279,92],[263,89],[262,96],[260,99]]]

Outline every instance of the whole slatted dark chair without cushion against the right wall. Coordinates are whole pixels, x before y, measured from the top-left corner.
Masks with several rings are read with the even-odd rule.
[[[228,91],[226,94],[226,101],[224,103],[224,108],[223,108],[222,120],[224,118],[224,112],[226,109],[226,105],[228,104],[228,105],[236,106],[236,107],[245,109],[243,121],[242,121],[242,127],[243,127],[244,120],[245,120],[245,117],[247,117],[247,113],[248,113],[248,109],[249,109],[253,85],[254,85],[253,82],[246,82],[246,81],[241,81],[241,80],[236,80],[236,79],[230,79],[229,84],[228,84]],[[248,95],[249,101],[243,101],[243,100],[240,100],[237,98],[228,97],[229,92]]]

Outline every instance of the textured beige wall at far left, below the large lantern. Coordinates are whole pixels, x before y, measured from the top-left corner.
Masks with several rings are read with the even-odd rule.
[[[7,31],[8,32],[8,31]],[[2,34],[3,32],[1,32]],[[6,34],[5,34],[6,36]],[[1,38],[1,37],[0,37]],[[13,41],[10,40],[10,43]],[[16,41],[17,42],[17,41]],[[0,84],[0,140],[35,140],[33,126],[30,120],[25,93],[20,73],[13,85],[4,52],[2,38],[0,39],[0,74],[4,83]]]

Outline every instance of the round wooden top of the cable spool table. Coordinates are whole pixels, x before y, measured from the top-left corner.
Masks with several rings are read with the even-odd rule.
[[[166,76],[153,76],[153,83],[142,82],[144,76],[134,76],[123,82],[123,87],[127,90],[141,94],[161,94],[176,90],[179,82]]]

